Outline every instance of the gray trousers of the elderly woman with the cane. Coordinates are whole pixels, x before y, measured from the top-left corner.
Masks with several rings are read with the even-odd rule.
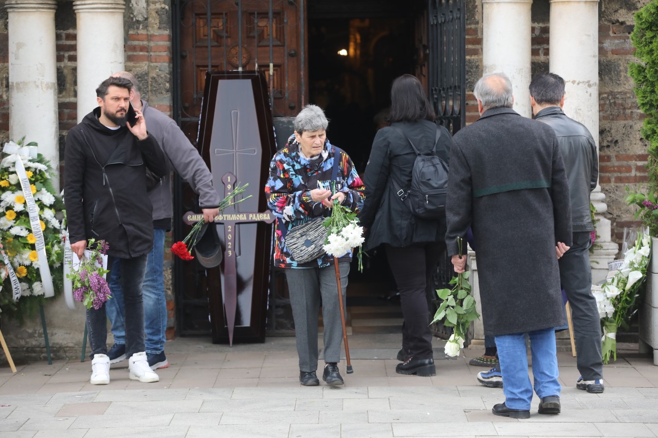
[[[341,262],[340,284],[345,304],[349,263]],[[343,328],[338,303],[336,268],[286,269],[286,280],[290,291],[290,306],[295,320],[295,340],[299,355],[299,371],[312,372],[318,369],[318,314],[322,303],[324,323],[324,362],[340,360],[340,344]],[[344,312],[344,309],[343,309]]]

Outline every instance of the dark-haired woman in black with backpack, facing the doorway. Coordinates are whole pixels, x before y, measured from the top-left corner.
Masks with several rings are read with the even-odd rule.
[[[445,252],[445,203],[434,202],[432,193],[444,199],[447,182],[432,178],[428,183],[434,187],[417,193],[422,185],[418,172],[433,170],[438,178],[446,177],[452,138],[437,126],[424,87],[410,74],[393,81],[389,120],[391,125],[379,130],[372,143],[359,220],[368,229],[367,249],[384,247],[400,293],[404,322],[397,359],[402,363],[395,372],[434,376],[428,297],[435,293],[432,275]],[[423,205],[414,202],[418,199],[429,201]]]

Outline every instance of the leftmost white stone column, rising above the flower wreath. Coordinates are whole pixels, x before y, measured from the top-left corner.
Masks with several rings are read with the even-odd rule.
[[[55,0],[7,0],[9,137],[36,141],[59,191]]]

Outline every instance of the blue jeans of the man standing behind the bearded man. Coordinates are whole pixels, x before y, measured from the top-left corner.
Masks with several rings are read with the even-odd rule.
[[[144,324],[146,353],[159,354],[164,351],[166,341],[166,299],[164,297],[164,230],[153,230],[153,249],[146,262],[146,274],[142,294],[144,299]],[[107,316],[112,323],[115,344],[126,343],[124,318],[124,295],[120,284],[121,269],[114,264],[110,279],[110,290],[115,298],[107,303]]]

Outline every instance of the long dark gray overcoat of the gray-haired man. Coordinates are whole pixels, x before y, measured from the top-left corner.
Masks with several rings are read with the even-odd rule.
[[[571,245],[571,211],[555,132],[497,108],[453,141],[445,243],[457,254],[457,237],[472,227],[484,332],[563,325],[555,245]]]

